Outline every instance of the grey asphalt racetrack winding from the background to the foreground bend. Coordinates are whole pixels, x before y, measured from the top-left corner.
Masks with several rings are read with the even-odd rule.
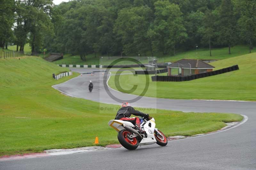
[[[71,68],[86,73],[97,69]],[[102,73],[83,74],[65,83],[54,85],[55,89],[97,102],[120,104],[105,92]],[[88,91],[88,81],[94,89]],[[110,89],[122,99],[136,96]],[[175,169],[175,170],[255,170],[256,169],[256,103],[234,101],[173,100],[142,97],[132,106],[155,107],[184,112],[227,112],[248,116],[248,120],[233,129],[212,135],[138,147],[135,151],[124,148],[77,153],[69,155],[0,161],[2,170],[32,169]],[[113,112],[113,118],[116,112]],[[106,126],[107,126],[106,122]],[[170,122],[172,123],[172,122]],[[156,120],[157,127],[157,120]],[[160,129],[161,130],[161,129]]]

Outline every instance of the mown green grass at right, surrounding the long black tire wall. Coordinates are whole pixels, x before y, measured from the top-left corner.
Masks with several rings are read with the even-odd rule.
[[[238,64],[240,70],[211,77],[183,82],[152,82],[145,96],[171,99],[222,99],[256,101],[256,53],[212,62],[215,70]],[[162,73],[166,75],[167,73]],[[161,74],[160,74],[161,75]],[[145,76],[121,75],[120,86],[131,89],[139,84],[132,94],[140,95],[145,87]],[[114,76],[109,85],[117,89]]]

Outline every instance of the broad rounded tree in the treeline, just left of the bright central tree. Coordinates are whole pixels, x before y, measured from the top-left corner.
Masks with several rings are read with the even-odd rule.
[[[123,9],[118,13],[114,31],[121,37],[123,50],[126,54],[142,53],[150,50],[147,36],[153,12],[147,6]]]

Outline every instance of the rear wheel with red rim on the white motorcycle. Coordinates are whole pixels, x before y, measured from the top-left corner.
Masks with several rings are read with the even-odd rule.
[[[128,150],[135,150],[139,146],[139,141],[136,137],[129,138],[127,134],[130,133],[131,132],[129,132],[128,130],[123,129],[118,132],[117,139],[121,143],[121,145],[124,146],[124,148]]]

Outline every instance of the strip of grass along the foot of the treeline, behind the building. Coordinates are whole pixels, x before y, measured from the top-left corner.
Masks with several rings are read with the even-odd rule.
[[[256,52],[256,50],[252,50],[252,52]],[[231,58],[236,57],[244,54],[248,54],[249,50],[247,46],[243,45],[237,45],[235,47],[231,48],[231,54],[228,54],[228,48],[219,48],[219,49],[213,49],[212,50],[212,57],[210,57],[210,52],[208,49],[197,49],[197,50],[190,50],[187,52],[178,52],[176,56],[170,56],[170,54],[163,55],[162,53],[155,54],[155,56],[158,57],[159,63],[164,62],[174,62],[182,58],[194,58],[194,59],[225,59],[225,58]],[[146,54],[147,56],[151,56],[151,54]],[[102,62],[99,58],[100,54],[96,55],[97,57],[94,57],[94,54],[89,54],[86,58],[86,61],[80,60],[79,55],[72,56],[71,54],[65,54],[64,58],[58,61],[55,61],[55,64],[78,64],[78,65],[92,65],[96,64],[99,65],[103,63],[103,65],[109,65],[114,59],[108,59],[107,57],[103,58]],[[134,55],[131,55],[134,56]],[[144,56],[144,55],[143,55]],[[147,63],[148,59],[141,59],[140,62]],[[130,62],[125,62],[123,64],[134,64]]]

